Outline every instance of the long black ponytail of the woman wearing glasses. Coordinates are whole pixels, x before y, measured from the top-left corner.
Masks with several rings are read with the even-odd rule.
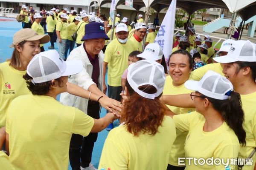
[[[243,129],[244,111],[239,93],[230,91],[230,98],[227,100],[206,98],[212,103],[212,107],[221,113],[224,121],[236,133],[239,143],[245,145],[246,133]]]

